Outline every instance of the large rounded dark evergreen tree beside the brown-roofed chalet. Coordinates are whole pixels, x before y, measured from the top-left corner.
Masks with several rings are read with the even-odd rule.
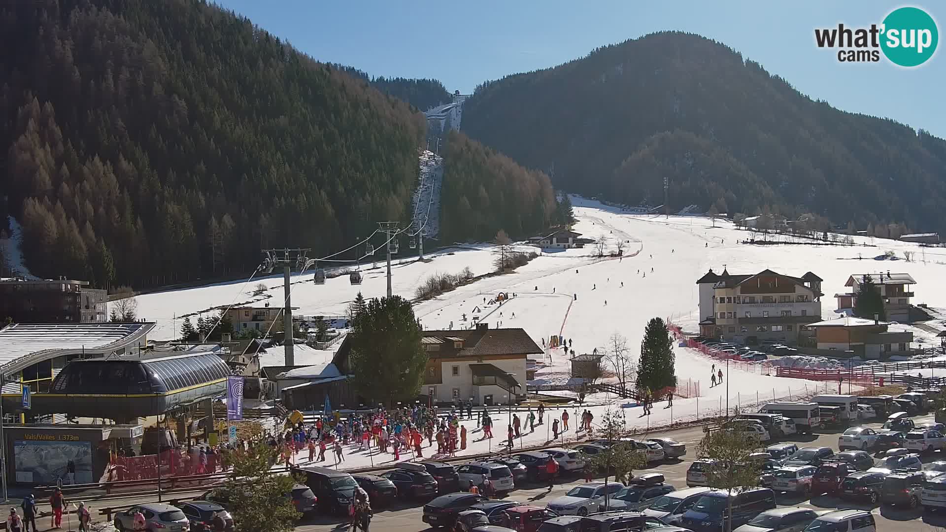
[[[410,301],[398,295],[368,301],[350,337],[353,384],[362,397],[389,404],[414,399],[427,353]]]

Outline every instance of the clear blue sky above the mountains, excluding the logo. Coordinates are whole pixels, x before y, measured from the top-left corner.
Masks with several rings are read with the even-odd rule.
[[[469,93],[483,80],[553,66],[654,31],[698,33],[762,63],[799,91],[846,111],[894,118],[946,137],[946,51],[904,69],[842,63],[815,27],[880,24],[896,2],[541,0],[475,2],[218,0],[324,62],[372,76],[434,78]],[[925,0],[940,34],[946,6]],[[940,35],[942,37],[942,35]]]

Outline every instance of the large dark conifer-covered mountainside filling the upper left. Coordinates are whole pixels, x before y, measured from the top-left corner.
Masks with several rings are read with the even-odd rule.
[[[423,115],[231,12],[13,0],[0,49],[0,205],[37,275],[250,272],[409,215]]]

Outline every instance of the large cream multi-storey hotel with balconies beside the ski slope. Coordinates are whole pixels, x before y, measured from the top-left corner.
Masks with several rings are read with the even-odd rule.
[[[700,334],[742,342],[779,339],[802,343],[821,321],[821,277],[763,270],[752,275],[712,270],[700,277]]]

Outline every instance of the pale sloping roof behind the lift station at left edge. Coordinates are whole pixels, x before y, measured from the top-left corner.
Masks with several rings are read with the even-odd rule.
[[[104,324],[12,324],[0,329],[5,373],[77,353],[112,353],[144,343],[151,322]]]

